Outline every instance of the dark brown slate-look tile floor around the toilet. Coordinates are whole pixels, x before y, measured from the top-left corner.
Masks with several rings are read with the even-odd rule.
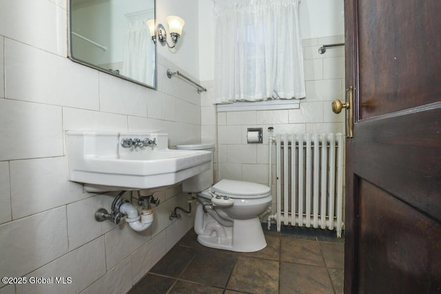
[[[130,294],[343,293],[344,240],[335,232],[264,232],[265,249],[237,253],[204,247],[190,230]]]

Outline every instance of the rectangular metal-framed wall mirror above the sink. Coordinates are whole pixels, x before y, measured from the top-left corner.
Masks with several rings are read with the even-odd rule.
[[[73,61],[156,89],[155,0],[70,0]]]

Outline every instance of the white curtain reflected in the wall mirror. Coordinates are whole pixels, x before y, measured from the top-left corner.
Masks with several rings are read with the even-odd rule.
[[[144,20],[128,23],[125,35],[124,62],[121,74],[152,84],[154,76],[154,43]]]

